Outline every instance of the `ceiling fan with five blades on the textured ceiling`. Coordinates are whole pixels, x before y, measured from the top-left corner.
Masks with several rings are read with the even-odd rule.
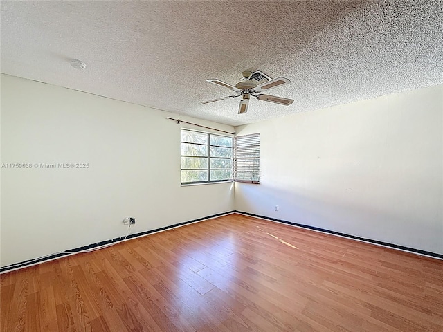
[[[210,102],[218,102],[219,100],[237,98],[241,96],[242,100],[240,101],[238,113],[244,114],[248,111],[248,104],[251,95],[257,98],[258,100],[264,100],[265,102],[275,102],[276,104],[280,105],[288,106],[293,103],[292,99],[277,97],[275,95],[262,94],[263,91],[267,91],[270,89],[277,88],[278,86],[283,86],[284,84],[291,83],[291,81],[289,81],[287,78],[277,77],[274,78],[273,80],[257,85],[257,83],[251,80],[251,77],[253,76],[253,73],[251,71],[244,71],[242,73],[242,76],[243,80],[235,84],[235,86],[222,82],[220,80],[213,80],[213,79],[206,80],[210,83],[217,84],[218,86],[223,86],[224,88],[230,89],[234,91],[236,94],[228,95],[227,97],[224,98],[218,98],[214,100],[208,100],[206,102],[200,102],[199,104],[208,104]]]

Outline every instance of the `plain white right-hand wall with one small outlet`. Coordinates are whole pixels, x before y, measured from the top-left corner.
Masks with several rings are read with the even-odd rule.
[[[237,127],[261,184],[236,210],[443,254],[442,113],[434,86]]]

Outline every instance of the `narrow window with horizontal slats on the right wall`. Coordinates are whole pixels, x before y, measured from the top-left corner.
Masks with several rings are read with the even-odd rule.
[[[260,181],[260,133],[234,138],[234,179],[239,182]]]

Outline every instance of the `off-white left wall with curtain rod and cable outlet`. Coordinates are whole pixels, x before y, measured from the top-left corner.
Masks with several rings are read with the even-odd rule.
[[[149,91],[147,91],[149,93]],[[233,210],[231,183],[181,187],[180,126],[157,111],[1,75],[1,266]],[[179,116],[233,131],[233,127]]]

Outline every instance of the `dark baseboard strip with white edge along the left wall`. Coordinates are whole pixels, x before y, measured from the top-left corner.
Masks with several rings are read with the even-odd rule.
[[[71,256],[71,255],[75,255],[78,254],[80,252],[84,252],[85,250],[93,250],[94,248],[98,248],[101,246],[107,246],[107,245],[113,245],[116,243],[120,243],[122,241],[127,241],[129,239],[134,239],[136,237],[144,237],[145,235],[148,234],[153,234],[153,233],[158,233],[158,232],[163,232],[165,230],[170,230],[172,228],[177,228],[177,227],[181,227],[184,225],[188,225],[190,223],[198,223],[200,221],[204,221],[207,219],[213,219],[213,218],[217,218],[217,216],[226,216],[227,214],[233,214],[235,211],[228,211],[228,212],[223,212],[223,213],[219,213],[219,214],[213,214],[211,216],[204,216],[203,218],[199,218],[199,219],[193,219],[190,221],[183,221],[183,223],[175,223],[174,225],[169,225],[169,226],[165,226],[162,228],[156,228],[155,230],[147,230],[145,232],[139,232],[139,233],[135,233],[135,234],[130,234],[126,237],[116,237],[114,239],[109,239],[106,241],[100,241],[97,243],[92,243],[89,244],[87,246],[82,246],[82,247],[78,247],[78,248],[73,248],[70,250],[65,250],[64,252],[57,252],[55,254],[52,255],[47,255],[44,257],[39,257],[39,258],[35,258],[35,259],[28,259],[26,261],[21,261],[19,263],[15,263],[15,264],[10,264],[8,266],[3,266],[0,268],[0,273],[5,273],[5,272],[10,272],[12,270],[19,270],[20,268],[26,268],[28,266],[33,266],[33,265],[37,265],[40,263],[44,263],[46,261],[53,261],[54,259],[59,259],[61,257],[66,257],[66,256]]]

